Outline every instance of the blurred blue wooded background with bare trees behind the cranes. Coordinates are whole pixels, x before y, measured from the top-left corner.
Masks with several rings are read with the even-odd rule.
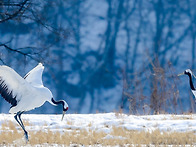
[[[68,113],[194,113],[195,0],[1,0],[0,64],[39,62]],[[0,112],[10,104],[0,99]],[[61,113],[49,103],[29,113]]]

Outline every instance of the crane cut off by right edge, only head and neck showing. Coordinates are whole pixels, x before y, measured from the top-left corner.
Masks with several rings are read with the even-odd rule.
[[[196,76],[193,74],[193,72],[190,69],[187,69],[183,73],[178,74],[178,76],[181,76],[181,75],[188,75],[189,76],[190,88],[191,88],[191,91],[196,99],[196,89],[195,89],[195,87],[193,85],[193,81],[192,81],[192,76],[194,76],[195,78],[196,78]]]

